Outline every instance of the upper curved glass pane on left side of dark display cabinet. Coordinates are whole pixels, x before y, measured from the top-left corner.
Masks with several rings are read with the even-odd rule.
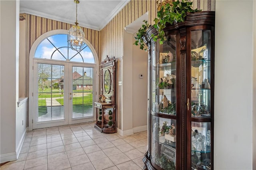
[[[176,35],[158,49],[152,60],[152,111],[176,115]]]

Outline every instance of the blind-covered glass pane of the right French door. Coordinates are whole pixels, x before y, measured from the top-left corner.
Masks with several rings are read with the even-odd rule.
[[[72,118],[92,117],[93,69],[89,67],[73,67],[72,87]]]

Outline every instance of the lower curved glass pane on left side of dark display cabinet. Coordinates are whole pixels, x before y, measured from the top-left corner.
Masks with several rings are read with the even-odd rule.
[[[176,170],[176,120],[152,116],[151,160],[164,170]]]

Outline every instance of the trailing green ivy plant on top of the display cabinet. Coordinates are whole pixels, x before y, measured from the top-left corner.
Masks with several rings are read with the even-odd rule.
[[[184,22],[187,12],[198,12],[197,8],[195,10],[192,9],[193,2],[188,2],[188,0],[163,0],[156,1],[158,6],[157,18],[154,19],[155,24],[153,25],[158,32],[158,35],[151,35],[154,41],[158,39],[160,44],[162,44],[165,40],[164,28],[166,23],[174,24]],[[135,45],[140,45],[140,49],[145,49],[145,44],[143,42],[142,37],[146,35],[146,30],[150,27],[150,25],[144,21],[145,24],[142,25],[142,28],[138,30],[138,34],[135,37]]]

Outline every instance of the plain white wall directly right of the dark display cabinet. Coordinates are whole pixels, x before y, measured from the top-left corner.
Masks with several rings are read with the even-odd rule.
[[[252,4],[216,1],[216,170],[252,169]]]

